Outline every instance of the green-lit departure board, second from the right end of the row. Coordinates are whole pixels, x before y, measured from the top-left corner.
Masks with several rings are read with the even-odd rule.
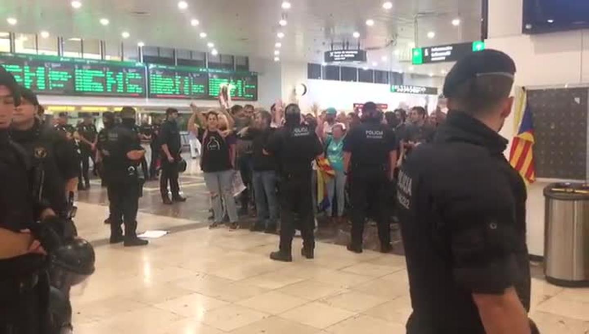
[[[153,98],[209,97],[209,72],[206,68],[150,64],[149,96]]]

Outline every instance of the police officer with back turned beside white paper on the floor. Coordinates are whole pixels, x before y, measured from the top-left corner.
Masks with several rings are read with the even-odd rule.
[[[148,242],[137,237],[137,210],[141,185],[140,164],[145,154],[137,134],[135,110],[124,107],[121,110],[121,124],[106,130],[106,140],[99,141],[104,177],[107,180],[110,200],[110,243],[124,241],[125,246],[144,246]],[[121,224],[125,224],[125,234]]]

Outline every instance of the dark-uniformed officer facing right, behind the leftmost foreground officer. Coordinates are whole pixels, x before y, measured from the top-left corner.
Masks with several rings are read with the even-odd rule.
[[[69,215],[67,194],[75,191],[78,177],[73,143],[35,117],[39,101],[34,92],[24,87],[20,92],[21,104],[16,107],[10,130],[12,140],[25,148],[35,168],[40,186],[36,193],[65,219]]]

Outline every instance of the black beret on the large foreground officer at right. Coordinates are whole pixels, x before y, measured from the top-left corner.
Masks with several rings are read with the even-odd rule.
[[[451,98],[460,85],[483,75],[504,75],[513,78],[515,62],[504,52],[494,49],[473,52],[456,62],[446,75],[444,96]]]

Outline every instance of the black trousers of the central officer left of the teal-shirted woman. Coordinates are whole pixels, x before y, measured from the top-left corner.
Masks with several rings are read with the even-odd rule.
[[[315,219],[311,194],[311,173],[283,174],[280,177],[280,251],[290,253],[294,237],[294,214],[300,222],[305,249],[315,249]]]

